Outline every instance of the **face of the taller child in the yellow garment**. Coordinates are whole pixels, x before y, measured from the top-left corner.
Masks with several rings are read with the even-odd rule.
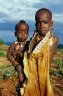
[[[51,29],[52,21],[50,14],[48,12],[40,12],[38,14],[38,19],[36,20],[36,29],[39,34],[46,35],[46,33]]]

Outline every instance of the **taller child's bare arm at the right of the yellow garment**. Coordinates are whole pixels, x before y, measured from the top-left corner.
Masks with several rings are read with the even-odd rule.
[[[50,64],[51,64],[51,61],[53,59],[53,56],[54,56],[54,54],[56,52],[57,44],[58,44],[58,38],[57,37],[54,37],[53,44],[50,47]]]

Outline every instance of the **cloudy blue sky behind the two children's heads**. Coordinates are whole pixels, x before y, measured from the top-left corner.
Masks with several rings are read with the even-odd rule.
[[[0,0],[0,39],[13,42],[14,28],[24,19],[30,26],[29,37],[35,30],[35,13],[40,8],[48,8],[53,15],[53,31],[63,44],[63,0]]]

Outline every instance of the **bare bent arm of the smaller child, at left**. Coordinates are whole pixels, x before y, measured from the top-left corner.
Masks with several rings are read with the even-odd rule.
[[[19,64],[12,56],[12,52],[14,50],[14,46],[15,44],[11,44],[8,51],[7,51],[7,58],[8,60],[13,64],[13,66],[16,66],[17,64]]]

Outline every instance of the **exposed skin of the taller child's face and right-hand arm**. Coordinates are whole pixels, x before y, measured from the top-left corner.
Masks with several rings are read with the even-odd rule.
[[[43,35],[45,36],[46,33],[51,29],[51,27],[53,25],[53,21],[51,20],[50,14],[46,11],[41,11],[38,14],[38,19],[36,20],[35,25],[36,25],[36,30],[39,33],[39,39],[42,39],[41,37]],[[53,44],[50,47],[50,63],[55,54],[57,43],[58,43],[58,38],[53,37]]]

